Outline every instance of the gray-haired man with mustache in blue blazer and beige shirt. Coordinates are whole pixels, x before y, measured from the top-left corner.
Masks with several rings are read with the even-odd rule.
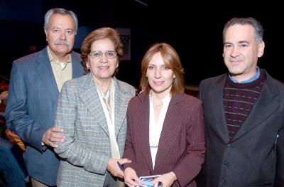
[[[59,160],[53,148],[65,140],[53,127],[61,87],[66,80],[83,75],[78,53],[72,51],[77,16],[65,9],[45,14],[48,46],[15,60],[11,70],[7,126],[26,143],[25,156],[33,186],[55,186]]]

